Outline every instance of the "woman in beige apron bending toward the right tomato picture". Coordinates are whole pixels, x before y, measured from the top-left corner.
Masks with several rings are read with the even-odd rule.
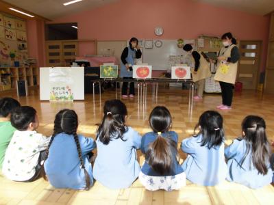
[[[198,51],[193,50],[190,44],[185,44],[183,49],[192,55],[192,64],[194,64],[194,68],[191,69],[192,81],[195,82],[197,86],[197,95],[193,98],[195,100],[200,100],[203,98],[206,78],[211,76],[210,66],[203,55],[200,55]]]

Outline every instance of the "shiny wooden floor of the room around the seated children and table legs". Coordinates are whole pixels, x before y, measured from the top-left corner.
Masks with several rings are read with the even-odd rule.
[[[14,94],[12,96],[17,98]],[[0,94],[3,97],[3,94]],[[51,135],[55,113],[60,109],[75,109],[79,115],[79,133],[95,137],[95,124],[101,121],[103,102],[115,98],[115,92],[108,91],[96,95],[86,95],[85,101],[73,103],[40,102],[37,90],[28,97],[18,100],[22,105],[33,106],[40,118],[38,131]],[[138,98],[123,100],[128,109],[127,124],[141,134],[149,131],[147,118],[155,105],[164,105],[173,115],[173,131],[179,135],[179,141],[190,136],[199,115],[208,109],[215,109],[221,102],[219,94],[207,94],[203,101],[195,102],[192,111],[188,110],[188,93],[181,90],[160,90],[157,102],[151,94],[147,104],[138,104]],[[240,122],[249,114],[260,115],[266,120],[269,139],[274,140],[274,96],[262,95],[260,92],[244,91],[234,96],[233,109],[220,111],[225,120],[226,144],[240,136]],[[179,145],[178,145],[179,146]],[[138,151],[140,162],[143,161]],[[182,159],[186,156],[180,152]],[[115,160],[115,159],[114,159]],[[118,160],[118,159],[117,159]],[[262,189],[252,190],[232,182],[223,182],[216,187],[202,187],[187,183],[179,191],[146,191],[136,180],[129,189],[110,190],[99,182],[90,191],[71,189],[54,189],[49,182],[37,180],[32,183],[12,182],[0,176],[0,204],[274,204],[274,188],[269,185]]]

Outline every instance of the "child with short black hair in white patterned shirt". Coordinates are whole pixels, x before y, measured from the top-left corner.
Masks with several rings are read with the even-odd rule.
[[[36,132],[39,121],[33,107],[17,107],[10,120],[17,131],[5,152],[3,174],[10,180],[32,182],[40,176],[49,137]]]

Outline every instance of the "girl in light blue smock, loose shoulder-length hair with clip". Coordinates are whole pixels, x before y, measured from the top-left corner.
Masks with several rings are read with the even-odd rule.
[[[214,186],[227,176],[223,118],[216,111],[206,111],[194,131],[197,128],[197,135],[182,141],[181,149],[188,154],[182,168],[191,182]]]

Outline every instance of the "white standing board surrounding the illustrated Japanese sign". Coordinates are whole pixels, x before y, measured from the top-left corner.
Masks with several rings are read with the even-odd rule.
[[[74,100],[84,100],[84,67],[69,67],[72,69]],[[52,67],[40,68],[40,100],[49,100],[49,70]],[[66,67],[64,67],[66,69]]]

